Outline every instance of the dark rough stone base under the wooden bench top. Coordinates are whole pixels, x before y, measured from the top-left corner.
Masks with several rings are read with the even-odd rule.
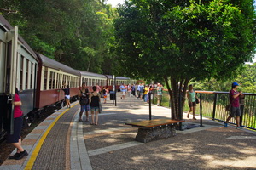
[[[176,136],[176,130],[173,125],[154,128],[138,128],[135,140],[138,142],[147,143],[158,139],[167,139]]]

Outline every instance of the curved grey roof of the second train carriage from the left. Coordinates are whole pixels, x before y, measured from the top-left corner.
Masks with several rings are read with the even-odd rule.
[[[73,74],[75,76],[80,77],[79,71],[67,66],[63,65],[62,63],[55,61],[54,59],[49,59],[48,57],[44,56],[43,54],[38,54],[38,57],[42,59],[42,63],[44,66],[55,69],[57,71],[61,70],[67,72],[69,74]]]

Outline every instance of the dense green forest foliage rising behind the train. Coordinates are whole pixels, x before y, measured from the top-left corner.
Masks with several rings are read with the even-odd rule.
[[[0,6],[15,11],[0,9],[38,53],[75,69],[113,73],[113,18],[118,15],[110,5],[100,0],[3,0]]]

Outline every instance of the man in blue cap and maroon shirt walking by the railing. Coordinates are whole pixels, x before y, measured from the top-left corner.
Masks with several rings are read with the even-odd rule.
[[[240,129],[240,116],[241,116],[241,110],[240,110],[240,104],[239,104],[239,96],[242,94],[242,92],[237,92],[236,89],[238,88],[239,84],[237,82],[232,83],[232,89],[230,90],[230,116],[227,118],[227,120],[224,122],[224,127],[228,127],[228,122],[232,117],[236,116],[236,128]]]

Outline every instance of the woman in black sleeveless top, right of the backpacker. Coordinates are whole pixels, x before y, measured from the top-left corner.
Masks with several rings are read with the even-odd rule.
[[[96,92],[96,86],[92,87],[93,92],[90,94],[90,111],[91,125],[98,125],[98,113],[100,110],[101,95]],[[94,114],[96,115],[94,117]]]

